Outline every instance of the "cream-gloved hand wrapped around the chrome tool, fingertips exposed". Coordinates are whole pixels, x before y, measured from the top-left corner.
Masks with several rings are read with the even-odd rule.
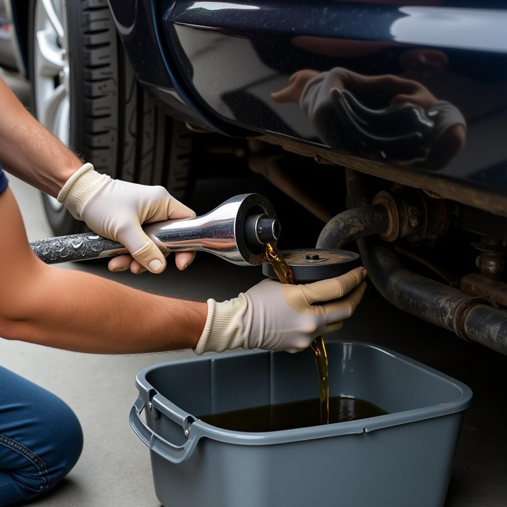
[[[97,234],[118,241],[131,255],[118,256],[108,265],[112,271],[130,269],[140,273],[148,269],[161,273],[165,257],[141,229],[144,223],[183,219],[195,213],[163,187],[150,187],[112,179],[85,164],[67,180],[58,194],[74,218],[83,220]],[[195,252],[177,252],[176,266],[185,269]]]

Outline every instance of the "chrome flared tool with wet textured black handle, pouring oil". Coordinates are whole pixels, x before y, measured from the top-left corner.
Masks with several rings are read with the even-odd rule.
[[[271,221],[271,227],[266,225],[266,220]],[[262,239],[259,238],[260,224],[264,231]],[[257,228],[253,233],[249,231],[252,227]],[[163,252],[203,250],[233,264],[257,266],[264,261],[261,245],[278,239],[280,225],[273,206],[264,196],[243,194],[204,215],[147,224],[142,229]],[[266,229],[273,233],[265,234]],[[256,240],[252,242],[251,238]],[[122,244],[94,233],[34,240],[30,241],[30,247],[47,264],[128,253]]]

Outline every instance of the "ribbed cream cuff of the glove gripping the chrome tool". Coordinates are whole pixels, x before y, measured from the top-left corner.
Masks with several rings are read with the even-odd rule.
[[[75,219],[81,219],[81,210],[90,196],[107,180],[107,174],[99,174],[93,170],[93,165],[87,163],[81,166],[58,193],[58,202],[64,204]]]

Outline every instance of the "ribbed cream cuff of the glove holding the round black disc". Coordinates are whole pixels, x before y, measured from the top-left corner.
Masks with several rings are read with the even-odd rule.
[[[242,317],[247,308],[244,294],[222,303],[208,299],[208,316],[194,352],[223,352],[238,347],[248,348],[248,332],[243,329]]]

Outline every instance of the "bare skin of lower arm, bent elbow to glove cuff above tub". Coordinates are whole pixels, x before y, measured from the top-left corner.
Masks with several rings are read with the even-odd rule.
[[[28,246],[13,194],[0,195],[0,337],[95,353],[193,348],[206,303],[155,296],[48,266]]]

